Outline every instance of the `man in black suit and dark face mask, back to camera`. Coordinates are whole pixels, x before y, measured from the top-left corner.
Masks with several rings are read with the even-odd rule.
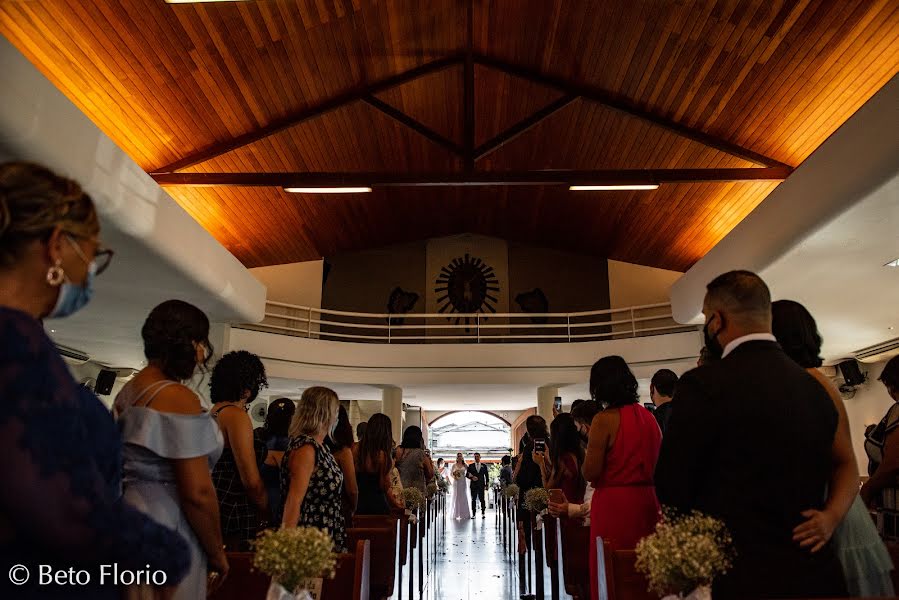
[[[821,510],[837,413],[827,391],[771,335],[771,296],[748,271],[709,283],[702,312],[713,360],[681,377],[656,466],[659,501],[723,520],[733,567],[720,598],[846,595],[828,544],[794,540],[803,511]]]

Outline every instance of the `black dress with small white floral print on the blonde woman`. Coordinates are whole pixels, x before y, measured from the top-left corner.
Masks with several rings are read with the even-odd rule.
[[[346,524],[341,509],[343,496],[343,472],[334,455],[308,435],[291,438],[281,460],[281,497],[287,498],[290,490],[290,455],[306,444],[315,448],[315,471],[309,479],[309,488],[300,507],[300,522],[304,527],[327,529],[334,539],[334,551],[346,552]]]

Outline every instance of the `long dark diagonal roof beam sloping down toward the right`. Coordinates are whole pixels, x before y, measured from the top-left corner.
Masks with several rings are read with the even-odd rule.
[[[643,119],[644,121],[648,121],[654,125],[658,125],[659,127],[664,127],[665,129],[668,129],[669,131],[672,131],[677,135],[689,138],[695,142],[703,144],[704,146],[721,150],[722,152],[726,152],[757,165],[766,167],[791,168],[789,165],[776,161],[773,158],[758,154],[757,152],[753,152],[752,150],[749,150],[747,148],[743,148],[742,146],[738,146],[736,144],[732,144],[725,140],[716,138],[703,131],[693,129],[692,127],[688,127],[676,121],[654,115],[635,106],[627,99],[621,98],[620,96],[616,96],[614,94],[610,94],[605,90],[583,83],[568,81],[566,79],[562,79],[561,77],[548,75],[536,69],[523,67],[521,65],[515,65],[497,58],[484,56],[483,54],[475,54],[474,60],[479,65],[489,67],[491,69],[496,69],[498,71],[503,71],[504,73],[514,75],[515,77],[528,79],[547,87],[556,88],[567,94],[583,96],[587,100],[598,102],[599,104],[626,113],[628,115],[631,115],[632,117]]]

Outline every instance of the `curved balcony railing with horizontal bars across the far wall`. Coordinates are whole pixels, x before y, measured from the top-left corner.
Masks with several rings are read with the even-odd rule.
[[[572,313],[363,313],[267,302],[261,323],[244,329],[363,343],[586,342],[695,331],[671,305]]]

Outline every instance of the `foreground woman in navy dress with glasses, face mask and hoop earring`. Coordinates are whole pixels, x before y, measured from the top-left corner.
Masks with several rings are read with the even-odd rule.
[[[29,163],[0,164],[0,597],[118,598],[101,565],[160,570],[178,584],[185,540],[121,494],[122,443],[109,411],[78,386],[41,319],[90,300],[109,265],[91,198]],[[88,585],[35,585],[38,565],[83,569]],[[7,572],[29,569],[13,587]],[[18,573],[24,574],[19,570]]]

